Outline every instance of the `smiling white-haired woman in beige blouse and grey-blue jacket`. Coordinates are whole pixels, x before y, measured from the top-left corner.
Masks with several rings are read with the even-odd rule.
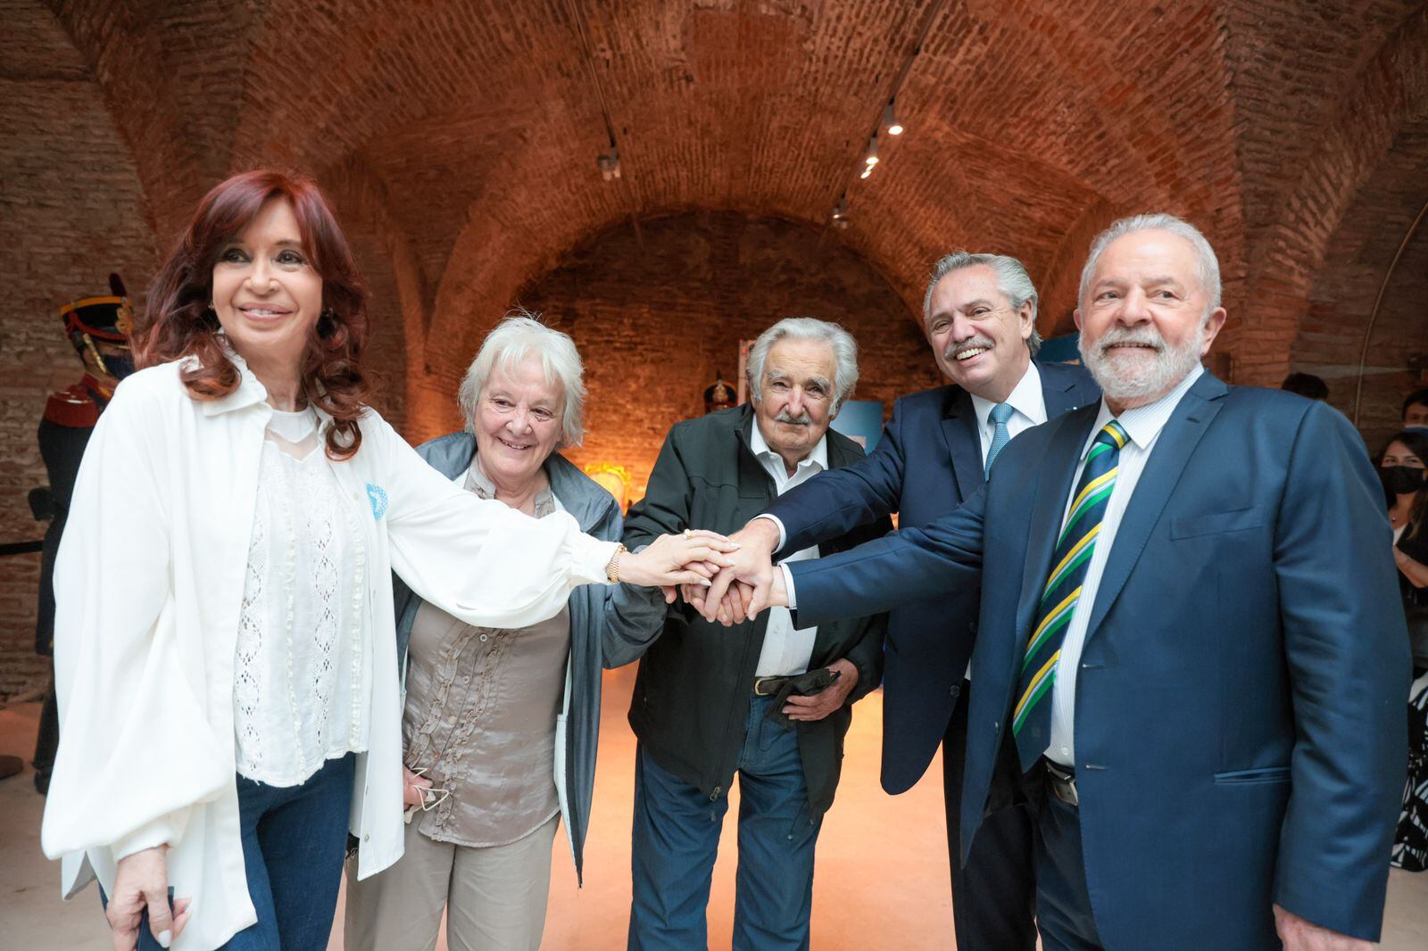
[[[618,504],[557,451],[580,444],[584,396],[574,341],[507,317],[461,383],[466,431],[418,453],[483,498],[536,518],[567,511],[581,531],[617,541]],[[347,948],[430,951],[443,907],[451,948],[537,948],[557,820],[581,874],[601,668],[644,651],[664,600],[654,588],[584,587],[554,618],[498,630],[453,618],[400,580],[396,588],[406,764],[421,804],[408,811],[403,860],[348,877]]]

